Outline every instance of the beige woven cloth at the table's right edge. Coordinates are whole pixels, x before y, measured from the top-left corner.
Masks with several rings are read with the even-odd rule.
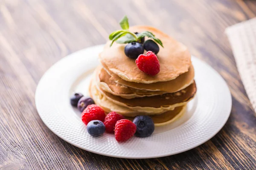
[[[256,112],[256,18],[226,29],[246,93]]]

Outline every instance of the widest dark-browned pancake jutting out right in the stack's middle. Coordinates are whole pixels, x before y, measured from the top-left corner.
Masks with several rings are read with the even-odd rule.
[[[103,91],[97,85],[96,88],[98,88],[99,92],[103,96],[105,96],[111,102],[116,103],[117,105],[125,106],[134,111],[149,113],[160,113],[164,111],[173,110],[175,107],[178,106],[185,105],[195,96],[196,93],[195,82],[189,85],[187,88],[175,93],[133,99],[124,99],[120,96],[114,96],[111,93]]]

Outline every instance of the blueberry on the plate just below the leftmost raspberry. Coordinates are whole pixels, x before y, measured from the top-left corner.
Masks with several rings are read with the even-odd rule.
[[[105,125],[100,120],[92,120],[87,124],[87,132],[94,137],[100,136],[105,132]]]

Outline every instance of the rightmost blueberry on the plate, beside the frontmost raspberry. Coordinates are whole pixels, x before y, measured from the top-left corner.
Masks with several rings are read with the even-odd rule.
[[[154,132],[154,122],[149,116],[137,116],[133,122],[137,126],[135,135],[140,138],[148,137]]]

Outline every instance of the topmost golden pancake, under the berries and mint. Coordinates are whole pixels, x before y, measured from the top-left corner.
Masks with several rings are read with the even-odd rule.
[[[128,82],[148,84],[175,79],[180,74],[189,70],[191,55],[185,45],[150,26],[134,26],[130,28],[130,31],[150,31],[163,42],[164,48],[159,45],[160,51],[157,54],[160,62],[160,72],[155,76],[145,74],[137,67],[135,59],[125,56],[124,48],[126,44],[114,42],[110,47],[111,41],[108,41],[103,51],[99,54],[99,58],[110,71],[120,78]],[[146,39],[147,37],[145,40]],[[146,53],[146,51],[144,51],[144,53]]]

